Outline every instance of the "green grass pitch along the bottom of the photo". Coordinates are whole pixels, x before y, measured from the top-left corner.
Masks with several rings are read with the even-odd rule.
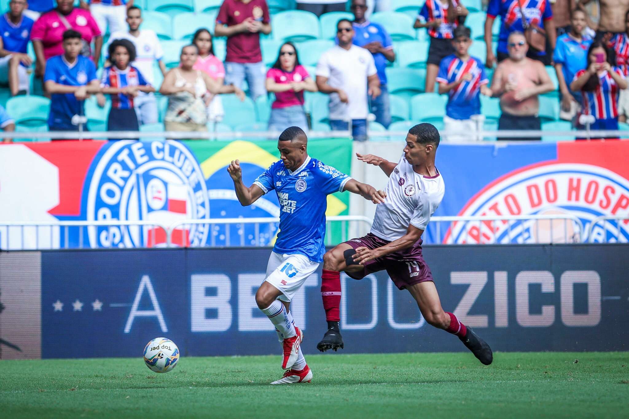
[[[0,362],[4,418],[629,416],[629,352],[308,356],[310,384],[270,386],[279,356]],[[578,360],[578,362],[576,362]]]

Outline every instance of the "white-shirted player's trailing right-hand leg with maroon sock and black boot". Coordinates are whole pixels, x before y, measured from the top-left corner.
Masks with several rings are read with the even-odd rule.
[[[472,351],[472,354],[485,365],[493,361],[493,352],[487,343],[478,337],[471,329],[459,322],[459,319],[452,313],[443,311],[439,294],[433,281],[424,281],[406,287],[413,295],[417,305],[420,307],[426,323],[443,329],[448,333],[457,335],[461,342]]]

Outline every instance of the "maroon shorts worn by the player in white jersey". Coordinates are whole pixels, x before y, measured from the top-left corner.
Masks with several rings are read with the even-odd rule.
[[[353,249],[368,248],[376,249],[389,244],[389,241],[383,240],[374,234],[351,239],[345,243],[352,246]],[[376,258],[365,263],[362,271],[345,272],[348,276],[355,280],[362,280],[370,273],[385,270],[391,277],[393,283],[400,289],[404,290],[407,286],[415,285],[424,281],[432,281],[432,273],[421,256],[421,239],[416,241],[413,246],[395,253],[385,254],[381,258]]]

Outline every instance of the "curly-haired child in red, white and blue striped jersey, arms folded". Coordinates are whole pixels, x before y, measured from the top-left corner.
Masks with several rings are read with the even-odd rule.
[[[148,84],[135,61],[135,46],[130,40],[115,40],[109,45],[109,58],[113,65],[105,67],[101,77],[101,92],[111,94],[111,109],[107,121],[108,131],[139,131],[138,116],[133,99],[138,92],[152,93],[155,88]]]

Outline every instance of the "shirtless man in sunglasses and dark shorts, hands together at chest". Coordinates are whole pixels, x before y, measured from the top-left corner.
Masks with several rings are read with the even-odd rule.
[[[500,97],[498,129],[541,129],[538,95],[555,89],[543,64],[526,57],[524,34],[512,32],[507,40],[509,58],[498,64],[491,80],[494,97]],[[540,138],[498,138],[505,140]]]

